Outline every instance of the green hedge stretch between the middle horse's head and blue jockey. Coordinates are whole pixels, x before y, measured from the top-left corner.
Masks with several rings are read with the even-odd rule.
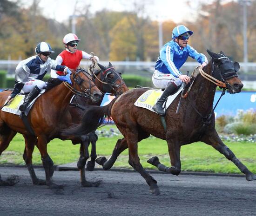
[[[136,85],[153,87],[153,83],[150,78],[135,75],[122,75],[122,78],[128,87],[134,88]]]

